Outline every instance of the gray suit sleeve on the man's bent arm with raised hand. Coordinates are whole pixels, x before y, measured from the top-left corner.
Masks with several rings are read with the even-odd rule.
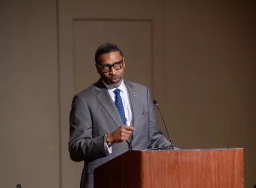
[[[91,113],[85,101],[74,96],[70,112],[70,157],[75,162],[91,161],[107,156],[105,136],[92,138]]]

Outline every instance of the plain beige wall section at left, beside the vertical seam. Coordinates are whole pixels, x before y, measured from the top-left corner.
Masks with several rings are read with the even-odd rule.
[[[1,1],[0,187],[59,187],[56,2]]]

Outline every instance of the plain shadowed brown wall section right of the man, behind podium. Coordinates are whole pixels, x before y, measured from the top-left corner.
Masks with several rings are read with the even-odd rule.
[[[244,148],[246,187],[256,183],[255,5],[164,6],[165,117],[172,138],[182,148]]]

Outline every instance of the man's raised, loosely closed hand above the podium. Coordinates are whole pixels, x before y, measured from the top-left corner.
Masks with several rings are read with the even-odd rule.
[[[133,129],[134,127],[126,125],[118,127],[113,133],[108,134],[108,142],[120,143],[128,140]]]

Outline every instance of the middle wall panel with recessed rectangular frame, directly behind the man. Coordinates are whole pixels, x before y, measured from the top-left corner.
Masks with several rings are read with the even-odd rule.
[[[59,82],[62,187],[79,187],[83,163],[68,154],[68,116],[72,97],[99,79],[94,53],[104,42],[121,48],[125,77],[147,85],[153,97],[163,99],[162,1],[58,2]]]

